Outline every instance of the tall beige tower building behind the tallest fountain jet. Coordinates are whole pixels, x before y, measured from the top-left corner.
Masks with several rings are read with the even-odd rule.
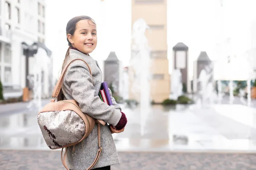
[[[166,0],[132,0],[132,24],[143,18],[149,29],[145,31],[150,52],[150,100],[156,103],[169,99],[170,75],[167,58],[167,2]],[[133,52],[131,53],[133,54]],[[129,68],[129,98],[140,102],[140,97],[132,92],[134,82],[133,65]]]

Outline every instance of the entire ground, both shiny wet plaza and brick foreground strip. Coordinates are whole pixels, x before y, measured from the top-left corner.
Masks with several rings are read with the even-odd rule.
[[[121,164],[112,170],[256,169],[254,107],[122,108],[128,124],[113,134]],[[50,150],[42,138],[37,112],[24,103],[0,106],[1,170],[64,169],[59,150]]]

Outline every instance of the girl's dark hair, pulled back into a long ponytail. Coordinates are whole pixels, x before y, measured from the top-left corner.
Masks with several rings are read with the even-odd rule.
[[[71,34],[72,36],[74,35],[74,32],[76,31],[76,24],[80,21],[80,20],[90,20],[91,22],[93,22],[95,25],[95,21],[91,18],[91,17],[88,17],[86,15],[81,15],[81,16],[77,16],[77,17],[73,17],[71,20],[69,20],[67,22],[67,27],[66,27],[66,35],[68,34]],[[65,58],[64,58],[64,61],[63,61],[63,64],[62,64],[62,68],[61,68],[61,73],[64,69],[64,66],[66,64],[66,61],[69,57],[69,51],[70,49],[72,48],[72,44],[71,42],[68,40],[67,38],[67,42],[68,42],[68,48],[67,48],[67,52],[66,52],[66,55],[65,55]],[[61,89],[60,93],[58,94],[57,96],[57,100],[60,101],[60,100],[64,100],[65,99],[65,96],[63,94],[63,91]]]

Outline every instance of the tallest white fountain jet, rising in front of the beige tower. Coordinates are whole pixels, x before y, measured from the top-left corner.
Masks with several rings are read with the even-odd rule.
[[[141,135],[144,134],[145,122],[150,109],[150,48],[145,31],[149,28],[140,18],[133,24],[131,45],[132,93],[140,100]]]

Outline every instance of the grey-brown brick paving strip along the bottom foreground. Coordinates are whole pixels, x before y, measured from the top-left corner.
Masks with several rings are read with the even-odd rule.
[[[111,170],[255,170],[256,154],[119,153]],[[1,170],[64,170],[58,151],[0,151]]]

